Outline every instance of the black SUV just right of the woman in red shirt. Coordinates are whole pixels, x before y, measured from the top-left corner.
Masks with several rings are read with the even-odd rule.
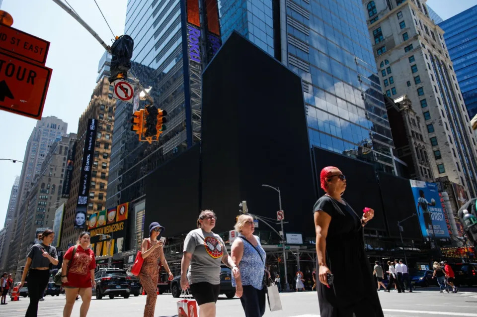
[[[96,299],[100,300],[108,295],[110,299],[115,296],[129,298],[131,293],[131,278],[125,270],[120,269],[99,269],[94,274],[96,281],[95,294]]]

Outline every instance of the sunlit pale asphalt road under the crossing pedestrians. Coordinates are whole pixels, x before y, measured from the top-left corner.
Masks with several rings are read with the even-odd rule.
[[[442,317],[460,316],[477,317],[477,288],[461,288],[457,294],[440,294],[437,288],[418,288],[414,293],[398,294],[379,292],[381,305],[386,317]],[[315,292],[282,293],[283,311],[267,312],[265,317],[319,317],[318,298]],[[177,299],[170,294],[159,295],[156,305],[156,317],[176,315]],[[8,305],[0,306],[0,316],[25,316],[28,307],[28,298],[21,298],[18,302],[7,301]],[[110,300],[103,298],[91,300],[88,317],[140,317],[143,315],[145,296],[121,297]],[[64,295],[59,297],[47,296],[40,302],[38,317],[62,317]],[[79,316],[79,299],[73,309],[73,317]],[[243,317],[240,300],[228,300],[221,295],[217,303],[217,317]]]

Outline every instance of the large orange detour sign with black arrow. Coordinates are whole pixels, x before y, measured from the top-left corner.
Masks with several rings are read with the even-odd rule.
[[[41,119],[51,72],[48,67],[0,52],[0,108]]]

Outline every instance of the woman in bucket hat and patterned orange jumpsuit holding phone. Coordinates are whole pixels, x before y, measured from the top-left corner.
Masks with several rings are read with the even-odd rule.
[[[144,307],[144,317],[154,317],[156,300],[158,299],[159,259],[169,275],[168,280],[171,281],[174,278],[165,260],[163,242],[160,240],[162,233],[164,233],[164,227],[158,222],[152,222],[149,225],[149,238],[144,239],[141,244],[144,262],[139,272],[139,280],[148,296]]]

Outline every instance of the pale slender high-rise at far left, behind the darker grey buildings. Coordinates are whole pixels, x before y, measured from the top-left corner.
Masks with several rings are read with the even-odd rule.
[[[14,244],[22,240],[23,230],[26,220],[27,203],[31,184],[35,177],[40,174],[41,167],[48,154],[50,147],[57,138],[67,135],[68,123],[56,116],[47,116],[41,118],[36,123],[28,139],[23,166],[18,185],[18,194],[13,215],[14,233],[11,239]],[[5,269],[14,273],[18,264],[19,247],[10,248],[6,259]]]

